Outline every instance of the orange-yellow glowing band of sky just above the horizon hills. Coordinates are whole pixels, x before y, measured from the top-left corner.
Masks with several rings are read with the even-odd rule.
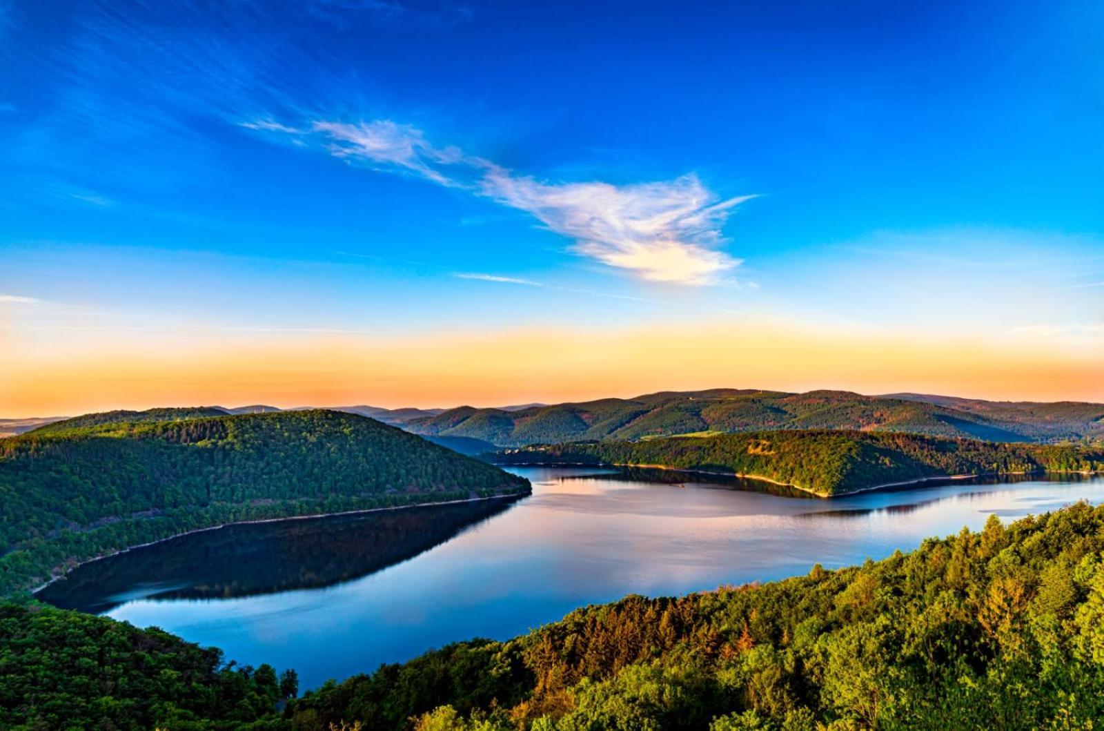
[[[923,340],[786,325],[526,330],[420,339],[0,332],[0,417],[163,405],[477,406],[654,391],[913,391],[1104,401],[1095,343]]]

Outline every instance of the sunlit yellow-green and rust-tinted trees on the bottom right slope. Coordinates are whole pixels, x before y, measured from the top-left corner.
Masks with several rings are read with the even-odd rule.
[[[1104,507],[681,598],[629,596],[307,693],[294,729],[1090,729]],[[454,667],[455,666],[455,667]],[[408,720],[407,720],[408,719]]]

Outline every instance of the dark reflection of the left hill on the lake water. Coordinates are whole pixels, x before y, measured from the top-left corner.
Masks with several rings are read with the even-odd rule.
[[[86,563],[36,597],[102,614],[138,598],[230,598],[331,586],[412,559],[516,500],[227,526]]]

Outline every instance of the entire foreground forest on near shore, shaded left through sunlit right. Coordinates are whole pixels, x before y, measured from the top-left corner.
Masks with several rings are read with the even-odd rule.
[[[505,643],[327,684],[160,631],[0,610],[0,727],[1091,729],[1104,716],[1104,507],[839,571],[629,596]]]

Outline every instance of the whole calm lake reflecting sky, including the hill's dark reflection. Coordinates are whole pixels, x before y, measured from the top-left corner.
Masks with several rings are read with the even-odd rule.
[[[821,500],[670,473],[659,478],[691,481],[513,472],[533,495],[512,505],[229,527],[87,564],[42,597],[156,625],[240,663],[295,667],[314,687],[454,640],[505,639],[629,593],[779,579],[978,529],[992,513],[1104,501],[1102,478]]]

